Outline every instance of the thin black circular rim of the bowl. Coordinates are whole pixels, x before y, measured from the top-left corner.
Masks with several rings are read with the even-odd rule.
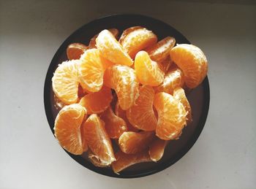
[[[62,53],[64,50],[66,50],[67,45],[69,45],[69,41],[74,36],[75,34],[78,34],[80,31],[82,31],[86,26],[90,26],[91,24],[95,22],[100,22],[105,19],[110,19],[110,18],[116,18],[116,17],[133,17],[133,18],[140,18],[140,19],[148,19],[152,20],[154,22],[160,23],[167,25],[168,27],[172,28],[177,32],[177,34],[180,34],[181,36],[184,37],[184,39],[187,39],[184,35],[182,35],[179,31],[177,31],[175,28],[170,26],[168,23],[163,22],[162,20],[158,20],[156,18],[151,18],[146,15],[138,15],[138,14],[114,14],[114,15],[105,15],[103,17],[96,18],[94,20],[91,20],[89,23],[84,24],[83,26],[80,26],[77,30],[73,31],[72,34],[70,34],[67,39],[64,40],[64,42],[61,43],[61,46],[58,48],[56,53],[54,54],[52,60],[50,61],[50,65],[48,67],[48,71],[45,77],[45,85],[44,85],[44,106],[45,106],[45,115],[48,120],[48,124],[50,126],[50,130],[54,135],[53,128],[51,125],[53,124],[54,126],[54,119],[51,111],[51,104],[50,104],[50,90],[52,90],[52,83],[51,83],[51,78],[52,74],[55,71],[56,64],[55,62],[58,61],[59,54]],[[187,40],[188,44],[190,44],[189,40]],[[195,144],[197,141],[198,137],[200,136],[201,132],[203,131],[203,128],[206,124],[206,118],[208,115],[208,109],[210,105],[210,88],[209,88],[209,82],[208,82],[208,77],[203,80],[202,82],[204,93],[203,93],[203,109],[202,109],[202,115],[200,117],[200,122],[198,123],[194,134],[191,136],[191,138],[188,140],[187,145],[184,145],[184,147],[181,148],[180,151],[176,155],[174,155],[174,158],[171,161],[167,161],[164,164],[162,163],[161,166],[157,166],[156,169],[151,170],[151,171],[146,171],[143,173],[138,173],[138,174],[115,174],[113,171],[107,171],[105,169],[97,168],[96,166],[93,166],[91,163],[87,163],[81,155],[72,155],[71,153],[67,152],[67,150],[64,150],[71,158],[73,158],[76,162],[80,163],[80,165],[86,167],[87,169],[97,172],[98,174],[102,174],[108,177],[116,177],[116,178],[138,178],[138,177],[146,177],[151,174],[155,174],[159,171],[162,171],[164,169],[167,169],[168,167],[172,166],[174,163],[176,163],[178,160],[180,160]],[[84,162],[83,162],[84,161]]]

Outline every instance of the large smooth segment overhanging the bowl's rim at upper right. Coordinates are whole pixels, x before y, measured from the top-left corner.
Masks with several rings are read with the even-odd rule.
[[[206,77],[206,55],[195,45],[181,44],[170,50],[170,58],[181,68],[187,87],[196,88]]]

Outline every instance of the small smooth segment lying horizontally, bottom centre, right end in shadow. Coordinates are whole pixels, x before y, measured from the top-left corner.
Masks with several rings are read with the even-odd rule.
[[[146,150],[154,140],[154,132],[124,132],[118,139],[120,149],[124,153],[135,154]]]

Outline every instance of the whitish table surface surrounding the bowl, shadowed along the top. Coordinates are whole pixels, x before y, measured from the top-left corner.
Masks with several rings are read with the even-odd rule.
[[[256,187],[255,4],[134,2],[0,0],[0,188]],[[90,20],[124,12],[159,18],[201,47],[211,89],[206,126],[187,155],[132,180],[72,161],[43,104],[45,74],[61,42]]]

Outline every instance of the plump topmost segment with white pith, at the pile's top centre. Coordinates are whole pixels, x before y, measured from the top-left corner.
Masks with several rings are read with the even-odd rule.
[[[135,26],[124,31],[119,42],[130,57],[135,58],[140,50],[157,43],[157,36],[146,28]]]

